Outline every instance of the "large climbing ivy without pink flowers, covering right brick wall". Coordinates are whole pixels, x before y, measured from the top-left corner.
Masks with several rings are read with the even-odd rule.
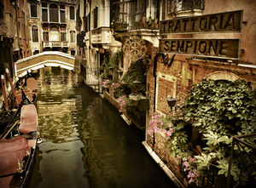
[[[256,131],[255,90],[240,79],[235,82],[202,80],[191,89],[183,106],[183,117],[198,127],[207,141],[203,149],[208,155],[195,157],[198,168],[203,173],[214,167],[218,174],[227,176],[233,136]],[[255,145],[255,138],[247,142]],[[237,181],[242,164],[236,147],[233,155],[231,175]]]

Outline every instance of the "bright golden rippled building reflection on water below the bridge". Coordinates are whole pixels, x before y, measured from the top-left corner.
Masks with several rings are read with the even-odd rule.
[[[54,142],[67,142],[75,138],[77,124],[74,120],[80,109],[80,97],[74,96],[72,71],[46,67],[39,77],[39,131],[43,138]],[[49,118],[51,117],[51,118]]]

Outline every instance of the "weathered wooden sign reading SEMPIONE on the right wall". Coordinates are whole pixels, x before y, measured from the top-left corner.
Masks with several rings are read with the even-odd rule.
[[[160,39],[160,53],[238,59],[239,39]]]

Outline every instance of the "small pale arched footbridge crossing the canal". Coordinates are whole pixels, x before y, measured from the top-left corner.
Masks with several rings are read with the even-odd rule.
[[[15,77],[24,77],[27,71],[34,71],[44,66],[59,66],[73,70],[75,58],[58,51],[43,52],[15,62]]]

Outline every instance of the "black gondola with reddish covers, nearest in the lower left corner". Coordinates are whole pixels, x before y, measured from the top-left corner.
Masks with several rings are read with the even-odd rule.
[[[0,187],[26,186],[32,172],[37,140],[37,109],[21,90],[15,116],[0,133]]]

